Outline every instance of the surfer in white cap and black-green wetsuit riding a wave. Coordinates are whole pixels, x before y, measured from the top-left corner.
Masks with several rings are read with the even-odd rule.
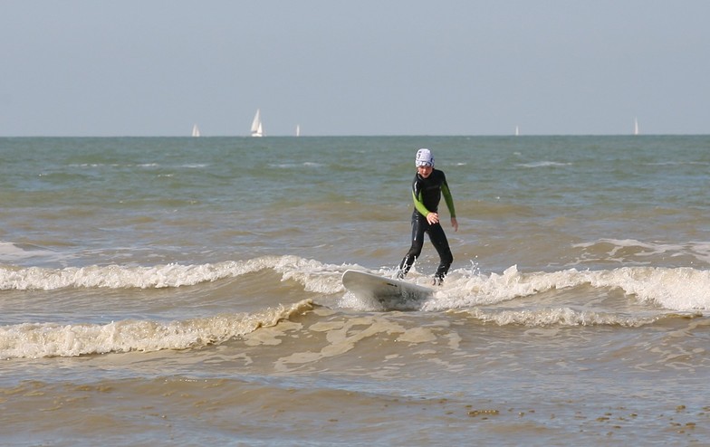
[[[434,168],[434,157],[429,149],[419,149],[415,158],[417,174],[412,183],[412,198],[414,199],[414,212],[412,213],[412,246],[399,264],[397,278],[403,279],[412,267],[424,246],[424,233],[429,235],[434,248],[439,253],[439,266],[434,275],[434,285],[441,285],[444,277],[454,262],[454,256],[446,240],[446,233],[439,222],[438,205],[444,195],[446,207],[451,214],[451,225],[458,231],[454,198],[446,183],[444,171]]]

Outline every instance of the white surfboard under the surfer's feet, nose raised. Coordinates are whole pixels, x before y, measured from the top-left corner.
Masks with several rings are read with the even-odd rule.
[[[342,274],[342,285],[358,298],[374,299],[382,303],[395,300],[425,300],[434,293],[434,290],[428,287],[411,282],[355,270]]]

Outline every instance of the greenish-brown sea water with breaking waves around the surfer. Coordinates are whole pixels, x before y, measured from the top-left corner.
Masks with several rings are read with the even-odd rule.
[[[429,300],[341,285],[407,252]],[[0,138],[6,445],[710,442],[710,137]],[[428,284],[428,241],[408,281]]]

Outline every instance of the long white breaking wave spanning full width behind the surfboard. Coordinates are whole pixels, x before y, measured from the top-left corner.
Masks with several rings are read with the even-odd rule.
[[[51,268],[0,267],[0,290],[60,290],[67,288],[162,289],[195,286],[205,282],[234,279],[271,270],[281,274],[281,281],[295,281],[303,290],[323,295],[344,292],[343,271],[360,266],[333,265],[294,255],[264,256],[245,261],[227,261],[197,265],[165,264],[157,266],[89,266]],[[374,273],[385,276],[385,268]],[[408,281],[427,280],[414,269]],[[710,271],[690,267],[665,268],[633,266],[612,270],[518,271],[517,266],[503,273],[484,274],[458,269],[446,278],[431,300],[417,309],[441,311],[495,305],[504,301],[533,297],[552,290],[587,287],[593,290],[621,290],[639,303],[675,311],[710,309]],[[341,307],[368,308],[368,303],[341,300]],[[369,309],[369,308],[368,308]],[[375,309],[375,308],[373,308]]]

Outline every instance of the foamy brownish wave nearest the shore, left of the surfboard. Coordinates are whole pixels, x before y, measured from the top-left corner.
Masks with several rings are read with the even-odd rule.
[[[53,323],[0,327],[0,359],[77,357],[91,354],[151,352],[216,345],[273,327],[313,308],[312,300],[249,314],[222,314],[169,323],[123,320],[110,324]]]

